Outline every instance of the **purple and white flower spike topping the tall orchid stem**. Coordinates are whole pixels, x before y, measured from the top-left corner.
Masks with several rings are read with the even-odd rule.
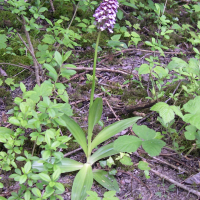
[[[98,29],[101,31],[108,29],[110,33],[113,33],[112,29],[114,28],[118,7],[119,3],[117,0],[103,0],[93,15]]]

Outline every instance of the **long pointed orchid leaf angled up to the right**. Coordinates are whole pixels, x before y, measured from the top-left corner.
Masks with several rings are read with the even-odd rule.
[[[111,138],[113,135],[123,131],[129,126],[133,125],[137,120],[141,119],[141,117],[132,117],[129,119],[124,119],[110,126],[104,128],[92,141],[92,149],[94,149],[97,145]]]

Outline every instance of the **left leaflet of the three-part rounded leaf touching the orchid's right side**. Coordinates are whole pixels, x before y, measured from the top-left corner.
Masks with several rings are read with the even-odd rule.
[[[124,135],[114,142],[114,149],[120,152],[135,152],[142,144],[142,140],[135,137]]]

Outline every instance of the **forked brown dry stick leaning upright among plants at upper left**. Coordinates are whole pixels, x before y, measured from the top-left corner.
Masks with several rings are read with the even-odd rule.
[[[38,63],[38,61],[37,61],[37,59],[36,59],[36,57],[35,57],[34,48],[33,48],[33,45],[32,45],[32,43],[31,43],[30,35],[29,35],[28,31],[26,30],[26,26],[25,26],[25,25],[26,25],[26,22],[25,22],[25,19],[24,19],[23,16],[22,16],[22,22],[23,22],[23,27],[24,27],[24,32],[25,32],[25,35],[26,35],[26,39],[27,39],[28,44],[29,44],[29,48],[27,48],[27,45],[25,45],[25,46],[26,46],[26,48],[29,50],[29,52],[31,53],[31,56],[32,56],[32,58],[33,58],[33,63],[34,63],[34,67],[35,67],[36,83],[37,83],[38,85],[40,85],[40,77],[39,77],[40,69],[39,69],[39,63]],[[17,34],[18,34],[18,36],[20,36],[19,33],[17,33]],[[20,36],[20,39],[22,40],[22,42],[23,42],[24,44],[26,44],[26,43],[23,41],[23,39],[22,39],[21,36]]]

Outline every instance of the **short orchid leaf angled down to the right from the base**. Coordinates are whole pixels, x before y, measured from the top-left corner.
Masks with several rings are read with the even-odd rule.
[[[103,170],[93,170],[93,175],[94,175],[94,180],[97,181],[106,189],[119,192],[119,186],[116,179],[108,172]]]

